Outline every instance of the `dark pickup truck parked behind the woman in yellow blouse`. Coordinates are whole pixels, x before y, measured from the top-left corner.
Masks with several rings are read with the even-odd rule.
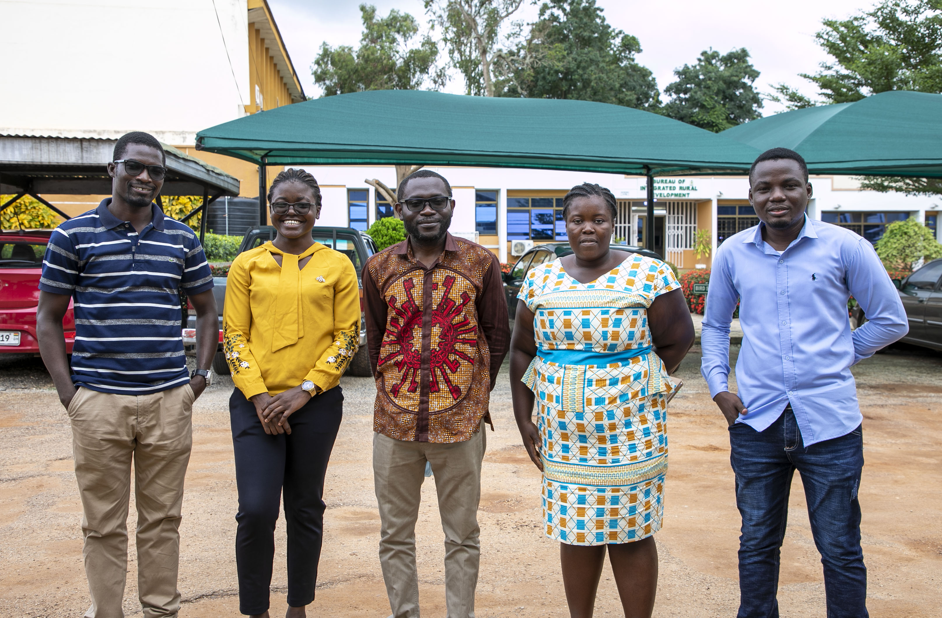
[[[353,268],[356,269],[357,280],[360,284],[360,350],[357,351],[356,356],[354,356],[353,360],[350,362],[347,373],[351,376],[371,376],[372,372],[369,368],[369,357],[366,353],[366,333],[363,317],[363,281],[360,280],[360,278],[366,258],[376,252],[376,243],[373,242],[373,239],[369,235],[349,227],[315,227],[312,231],[312,236],[314,236],[314,239],[320,244],[347,255],[347,257],[350,258],[350,262],[353,263]],[[274,240],[274,238],[275,228],[270,225],[259,225],[249,228],[242,238],[242,244],[239,246],[238,252],[246,252],[255,247],[260,247],[268,242],[268,240]],[[220,375],[228,375],[230,372],[229,364],[226,363],[225,355],[222,352],[222,307],[226,301],[226,278],[214,277],[213,284],[213,295],[216,297],[216,304],[219,306],[219,350],[213,358],[213,371]],[[187,317],[187,328],[184,329],[183,332],[184,346],[187,349],[187,354],[196,352],[195,337],[196,315],[195,312],[190,309]]]

